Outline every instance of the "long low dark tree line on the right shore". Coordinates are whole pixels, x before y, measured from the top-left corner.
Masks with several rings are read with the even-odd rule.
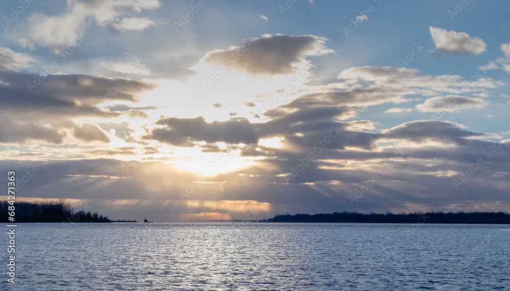
[[[427,212],[392,214],[363,214],[356,212],[334,212],[332,214],[276,215],[261,222],[366,222],[366,223],[473,223],[510,224],[510,214],[503,212],[457,213]]]

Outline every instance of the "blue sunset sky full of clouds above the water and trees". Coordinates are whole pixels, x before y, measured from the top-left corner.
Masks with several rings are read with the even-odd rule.
[[[1,172],[111,219],[510,211],[509,9],[2,2]]]

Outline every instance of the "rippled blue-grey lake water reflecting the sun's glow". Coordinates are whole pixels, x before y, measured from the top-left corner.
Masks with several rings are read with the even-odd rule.
[[[17,283],[6,283],[4,267],[3,289],[510,286],[508,225],[39,223],[19,224],[16,232]]]

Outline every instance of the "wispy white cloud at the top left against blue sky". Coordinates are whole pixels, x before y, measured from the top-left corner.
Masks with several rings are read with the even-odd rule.
[[[25,23],[20,24],[13,36],[23,35],[33,43],[60,47],[72,43],[77,36],[83,36],[95,23],[101,27],[112,25],[114,28],[125,30],[142,30],[152,23],[146,18],[121,18],[129,15],[127,9],[141,12],[145,9],[161,7],[157,0],[122,0],[99,1],[67,0],[66,10],[58,15],[45,15],[37,12],[27,17]],[[120,20],[119,20],[120,19]]]

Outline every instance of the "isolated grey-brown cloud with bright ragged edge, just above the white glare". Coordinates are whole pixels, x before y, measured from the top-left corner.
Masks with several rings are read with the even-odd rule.
[[[313,35],[265,35],[243,45],[216,50],[206,56],[206,62],[243,71],[249,75],[291,74],[297,65],[308,65],[305,57],[329,54],[326,38]]]

